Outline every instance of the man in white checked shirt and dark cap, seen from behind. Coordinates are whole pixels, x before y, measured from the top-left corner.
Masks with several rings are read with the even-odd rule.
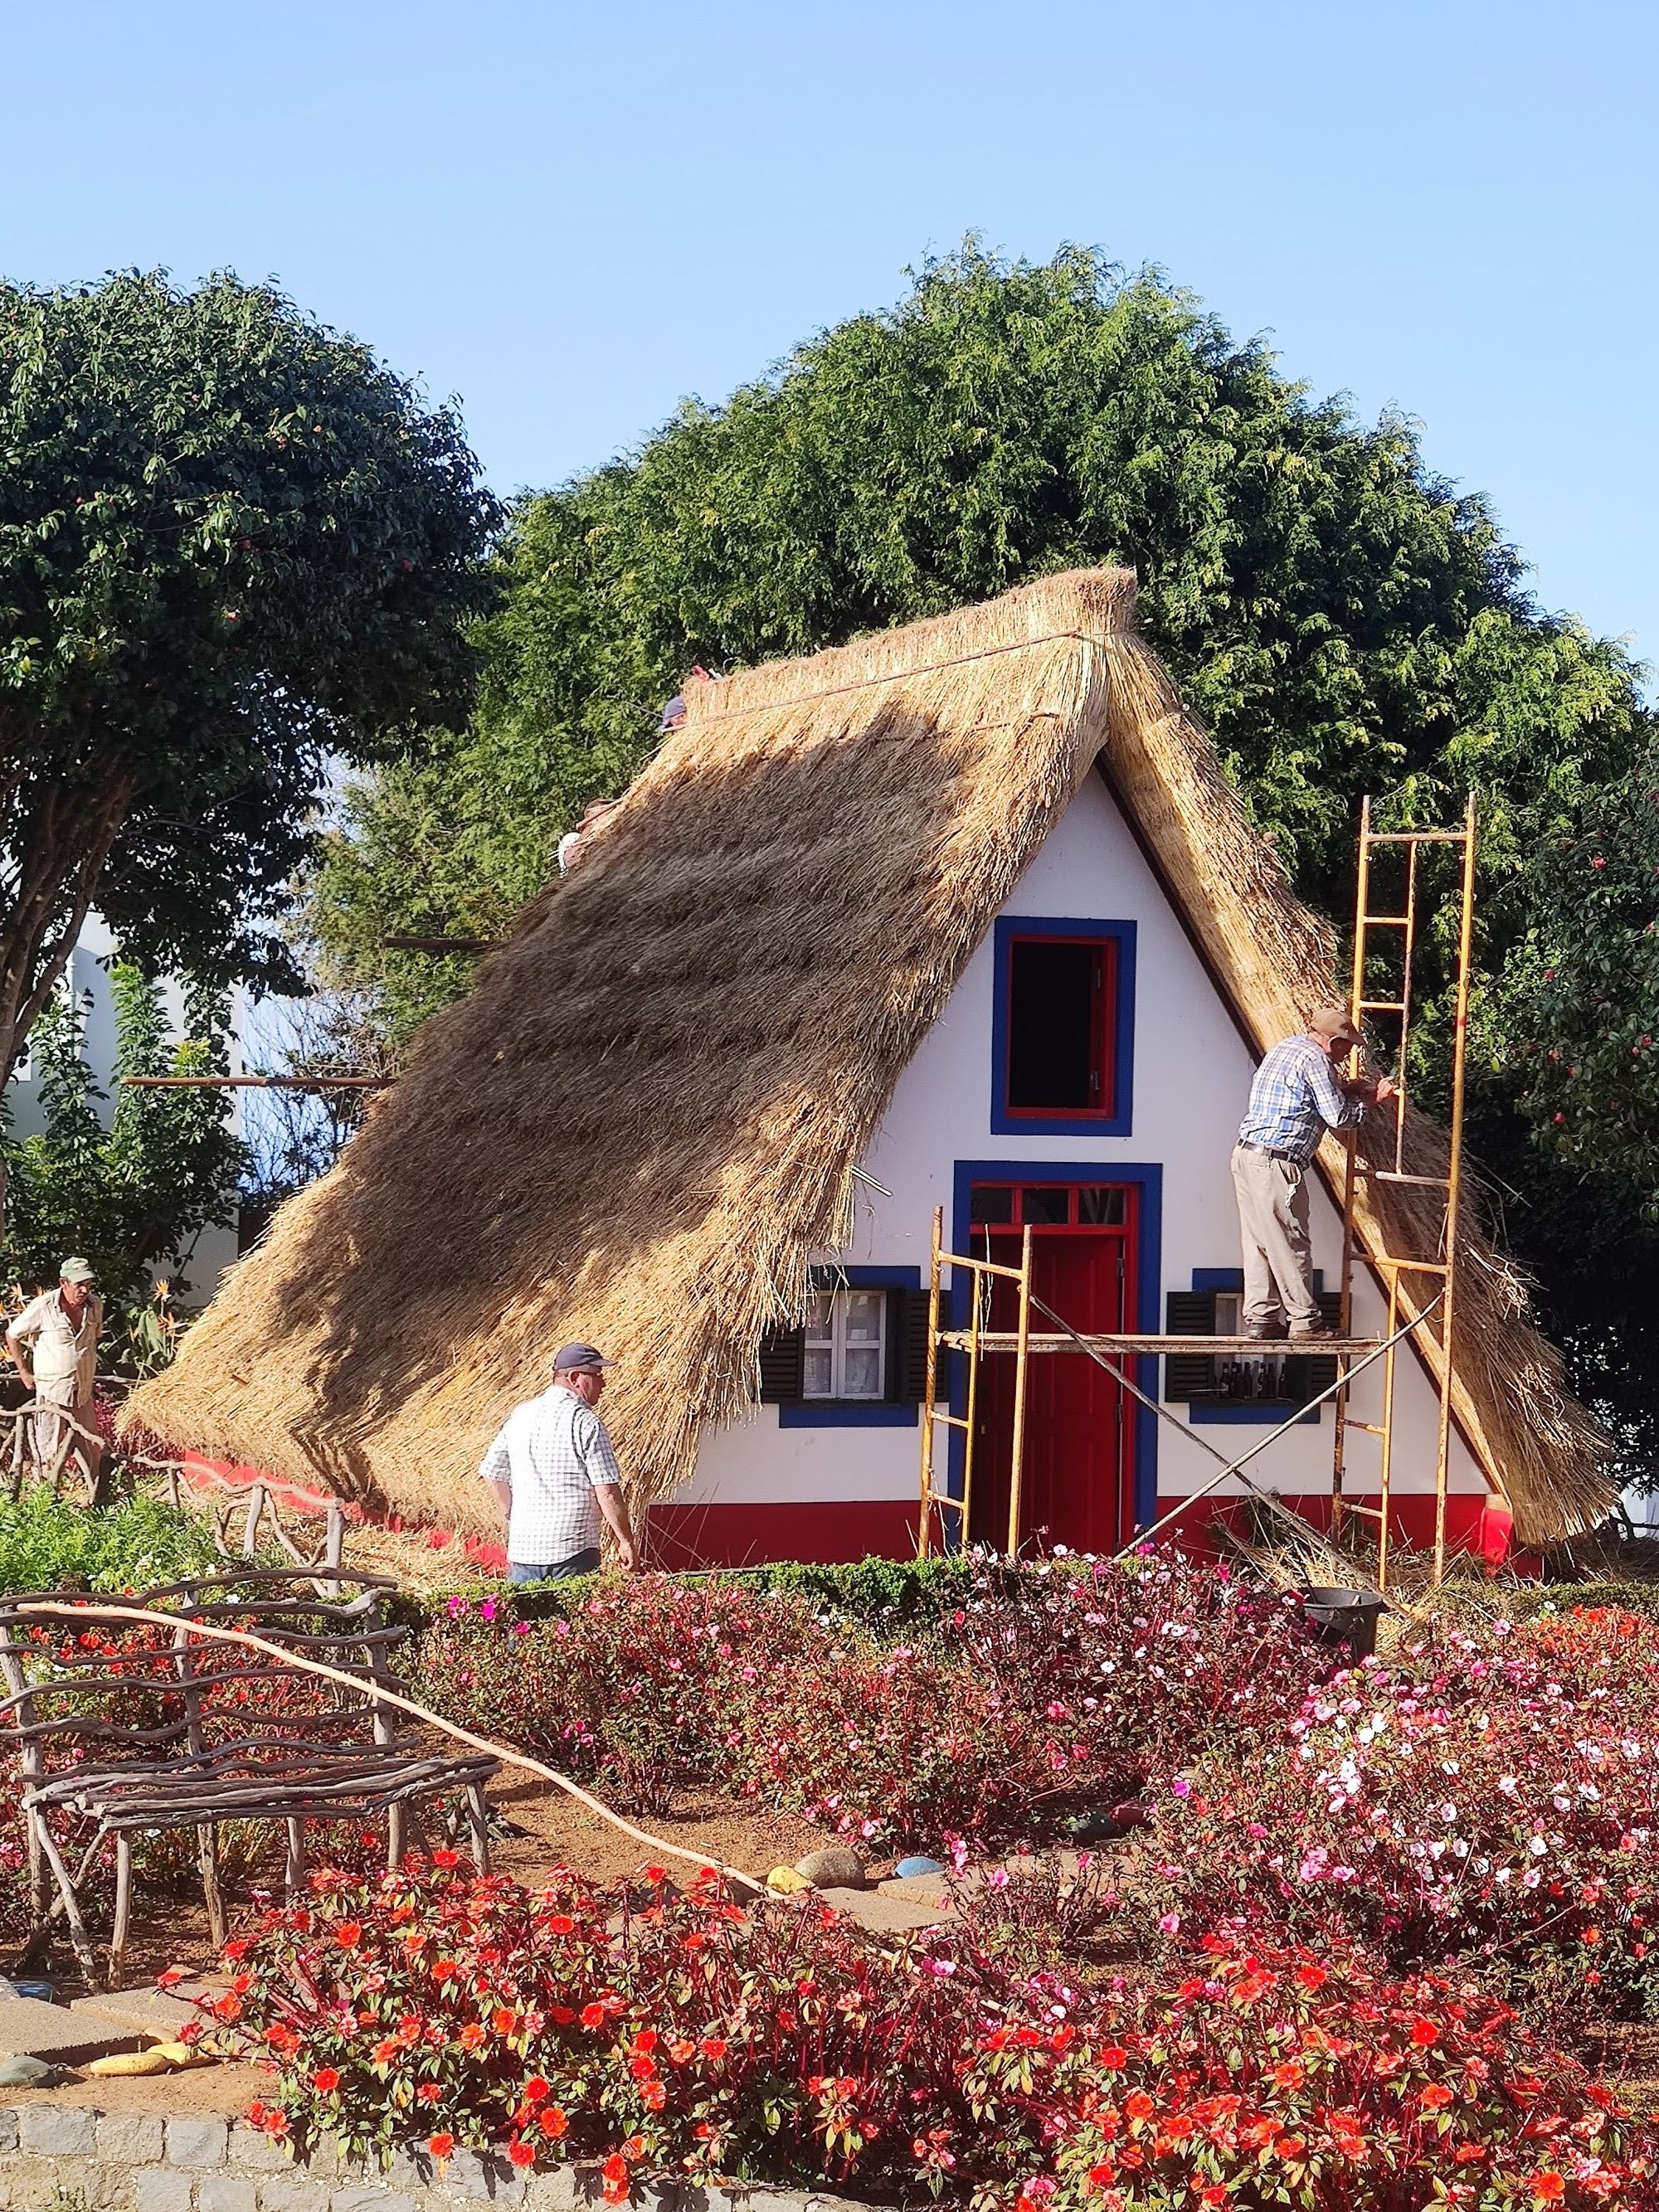
[[[597,1413],[606,1367],[593,1345],[560,1345],[551,1387],[515,1405],[484,1453],[478,1473],[507,1520],[513,1582],[591,1575],[606,1522],[624,1568],[639,1568],[617,1455]]]

